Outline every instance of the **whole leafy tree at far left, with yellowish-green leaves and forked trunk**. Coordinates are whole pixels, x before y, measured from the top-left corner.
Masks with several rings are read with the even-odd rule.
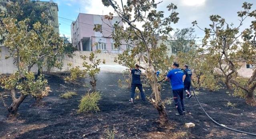
[[[4,89],[11,90],[13,102],[8,111],[11,114],[16,114],[18,107],[28,94],[35,97],[36,102],[41,102],[41,98],[50,92],[44,76],[40,75],[36,78],[31,72],[31,68],[38,62],[44,64],[49,59],[55,60],[54,66],[60,68],[60,61],[53,58],[62,54],[63,45],[62,39],[58,33],[54,33],[51,25],[36,22],[30,26],[29,18],[18,22],[16,17],[22,14],[18,2],[7,2],[6,9],[11,10],[12,14],[2,12],[0,31],[1,34],[4,34],[4,46],[10,52],[9,57],[14,58],[17,71],[1,80],[1,84]],[[47,20],[47,17],[45,18]],[[17,96],[18,91],[20,92],[19,97]]]

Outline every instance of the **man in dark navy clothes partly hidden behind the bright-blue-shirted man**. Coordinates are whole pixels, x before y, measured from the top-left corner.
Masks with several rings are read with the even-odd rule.
[[[190,92],[190,85],[191,85],[191,76],[192,76],[192,72],[190,69],[188,69],[188,65],[184,65],[184,73],[186,75],[185,80],[184,80],[184,90],[187,93],[187,98],[191,98],[191,96],[193,96]]]

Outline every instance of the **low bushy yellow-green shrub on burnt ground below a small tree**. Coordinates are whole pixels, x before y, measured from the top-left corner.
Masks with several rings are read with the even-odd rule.
[[[78,113],[97,112],[99,111],[98,102],[101,99],[100,92],[87,93],[82,97],[78,106]]]

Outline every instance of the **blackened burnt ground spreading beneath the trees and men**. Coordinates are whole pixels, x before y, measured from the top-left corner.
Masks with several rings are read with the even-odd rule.
[[[119,73],[101,73],[98,76],[97,89],[103,94],[99,101],[101,111],[77,114],[79,100],[89,88],[65,84],[57,76],[47,78],[52,92],[44,98],[45,106],[33,106],[35,101],[29,96],[21,104],[19,116],[8,118],[8,111],[0,102],[1,139],[105,139],[111,131],[116,139],[256,139],[215,125],[194,97],[185,101],[191,114],[184,117],[174,115],[173,104],[166,105],[171,126],[161,128],[157,123],[158,112],[149,102],[143,104],[138,100],[134,105],[128,104],[129,89],[118,87],[117,81],[122,78]],[[170,97],[170,85],[165,83],[162,86],[162,98]],[[149,96],[149,88],[144,89]],[[60,98],[59,95],[67,90],[79,95],[67,100]],[[226,90],[200,92],[198,98],[213,119],[228,127],[256,133],[256,109],[247,106],[243,99],[229,96]],[[11,104],[10,96],[5,96],[4,100],[7,105]],[[228,101],[236,104],[235,108],[226,106]],[[195,123],[196,127],[185,128],[184,124],[188,122]]]

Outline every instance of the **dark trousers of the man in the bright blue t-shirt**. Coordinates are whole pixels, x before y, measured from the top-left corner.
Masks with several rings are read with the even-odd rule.
[[[185,112],[185,106],[184,106],[184,101],[183,101],[183,90],[184,90],[184,88],[172,90],[175,106],[176,106],[179,114],[181,114],[181,115],[183,115],[183,112]]]

